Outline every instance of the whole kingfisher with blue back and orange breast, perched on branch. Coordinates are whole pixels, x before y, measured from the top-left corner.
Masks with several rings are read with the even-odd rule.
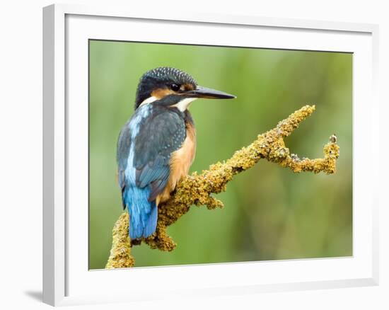
[[[171,67],[147,71],[139,81],[135,111],[117,140],[117,179],[129,212],[130,239],[156,231],[158,205],[187,175],[196,151],[196,130],[188,108],[197,98],[236,96],[198,86]]]

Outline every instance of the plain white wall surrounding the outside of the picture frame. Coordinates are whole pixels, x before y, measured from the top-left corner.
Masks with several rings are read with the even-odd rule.
[[[108,1],[68,1],[108,4]],[[109,1],[112,5],[139,5],[142,1]],[[163,10],[210,11],[324,21],[379,23],[381,69],[381,132],[388,134],[389,10],[386,1],[143,1]],[[0,6],[0,304],[3,309],[48,308],[41,304],[42,260],[42,6],[51,1],[2,1]],[[385,103],[385,105],[384,105]],[[368,104],[368,103],[366,103]],[[385,130],[385,132],[384,132]],[[382,134],[382,135],[383,135]],[[388,140],[387,138],[385,139]],[[382,139],[382,142],[384,140]],[[381,150],[387,154],[388,147]],[[388,168],[383,167],[384,176]],[[382,183],[381,192],[387,190]],[[386,199],[386,198],[385,198]],[[382,201],[383,202],[383,201]],[[388,202],[388,199],[385,200]],[[388,204],[381,203],[381,285],[281,294],[219,297],[195,301],[122,305],[156,309],[231,306],[237,309],[389,309]],[[375,304],[375,306],[373,306]],[[109,309],[110,306],[97,306]],[[115,305],[119,307],[119,305]],[[76,309],[92,308],[81,306]]]

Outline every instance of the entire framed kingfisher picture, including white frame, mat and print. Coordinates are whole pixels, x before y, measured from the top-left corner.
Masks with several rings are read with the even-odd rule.
[[[43,39],[44,302],[378,284],[378,26],[56,4]]]

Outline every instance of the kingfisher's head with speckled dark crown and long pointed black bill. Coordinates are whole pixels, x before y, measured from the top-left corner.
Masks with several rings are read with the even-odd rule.
[[[179,69],[159,67],[147,71],[139,81],[135,109],[153,103],[185,111],[197,98],[229,99],[236,96],[198,86],[189,74]]]

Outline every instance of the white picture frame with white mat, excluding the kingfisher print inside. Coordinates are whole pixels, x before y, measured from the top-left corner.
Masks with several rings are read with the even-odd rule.
[[[129,40],[128,30],[141,24],[132,40],[172,42],[155,27],[180,27],[175,42],[212,45],[212,31],[220,32],[221,45],[248,46],[245,33],[262,32],[261,47],[353,52],[354,116],[354,256],[315,260],[282,260],[214,265],[191,265],[132,270],[89,271],[87,200],[84,156],[71,154],[69,145],[85,151],[88,38]],[[180,37],[180,28],[199,28],[209,36]],[[124,28],[124,30],[123,30]],[[216,29],[217,28],[217,29]],[[120,30],[122,29],[122,30]],[[185,29],[182,33],[185,33]],[[148,32],[149,31],[149,32]],[[233,36],[223,37],[223,31]],[[272,35],[269,35],[269,33]],[[242,35],[243,34],[243,35]],[[132,33],[132,35],[134,35]],[[233,37],[231,39],[231,37]],[[307,40],[308,39],[308,40]],[[228,41],[229,40],[229,41]],[[233,41],[231,41],[233,40]],[[253,43],[254,44],[254,43]],[[250,45],[251,46],[251,45]],[[258,45],[252,45],[258,47]],[[358,23],[300,21],[257,16],[218,16],[207,13],[172,13],[128,8],[55,4],[43,9],[43,301],[47,304],[124,302],[163,298],[166,294],[242,294],[293,289],[352,287],[378,284],[378,203],[373,180],[378,151],[363,149],[378,144],[378,26]],[[79,71],[74,74],[74,67]],[[86,99],[86,100],[85,100]],[[80,110],[69,110],[69,102]],[[368,109],[366,109],[368,106]],[[86,108],[86,109],[85,109]],[[363,122],[364,127],[359,126]],[[84,131],[83,131],[84,130]],[[77,132],[77,134],[75,134]],[[82,153],[82,151],[81,151]],[[80,159],[80,161],[79,161]],[[363,166],[373,159],[374,169]],[[374,160],[375,159],[375,160]],[[86,165],[88,166],[88,165]],[[74,169],[72,167],[77,167]],[[72,170],[74,169],[74,170]],[[76,172],[75,172],[76,171]],[[87,182],[87,181],[86,181]],[[76,203],[75,203],[76,202]],[[75,204],[78,208],[75,209]],[[83,209],[86,207],[86,210]],[[69,208],[72,212],[69,212]],[[73,209],[72,209],[73,208]],[[79,213],[78,213],[79,212]],[[86,248],[85,248],[86,246]],[[77,253],[77,256],[74,256]],[[127,273],[126,273],[127,272]],[[121,285],[131,277],[138,287]],[[261,277],[252,277],[260,272]],[[207,274],[207,284],[204,283]],[[146,287],[153,278],[155,287]],[[166,279],[169,279],[166,281]],[[135,281],[134,281],[135,282]],[[142,284],[145,285],[142,285]],[[161,289],[161,284],[164,284]],[[109,285],[108,285],[109,284]],[[158,289],[158,287],[160,287]],[[129,292],[131,292],[129,294]]]

